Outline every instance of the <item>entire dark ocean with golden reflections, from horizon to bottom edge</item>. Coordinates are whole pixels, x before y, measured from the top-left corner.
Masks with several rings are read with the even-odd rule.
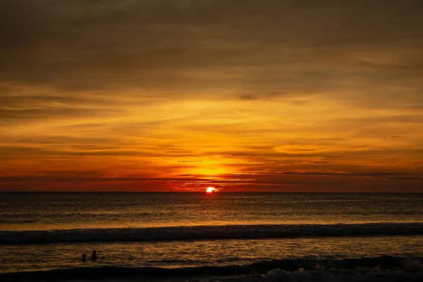
[[[423,194],[0,193],[0,281],[423,281],[422,262]]]

